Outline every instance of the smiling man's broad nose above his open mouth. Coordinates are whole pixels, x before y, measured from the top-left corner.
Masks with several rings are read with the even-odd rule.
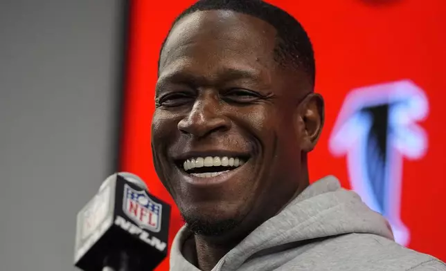
[[[230,127],[231,121],[222,114],[218,98],[209,96],[197,99],[192,110],[178,123],[179,131],[199,138]]]

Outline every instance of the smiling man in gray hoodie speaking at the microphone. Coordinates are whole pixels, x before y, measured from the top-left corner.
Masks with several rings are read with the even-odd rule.
[[[198,1],[174,22],[152,121],[157,174],[186,221],[172,270],[446,270],[336,178],[309,185],[314,77],[305,30],[262,1]]]

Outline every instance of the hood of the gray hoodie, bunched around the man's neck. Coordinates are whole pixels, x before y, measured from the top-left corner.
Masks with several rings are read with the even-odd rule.
[[[393,240],[384,217],[368,208],[355,192],[341,188],[337,178],[328,176],[307,187],[281,212],[257,227],[220,259],[213,271],[242,269],[248,260],[351,233]],[[175,236],[171,270],[199,270],[184,257],[184,243],[190,238],[193,236],[186,227]]]

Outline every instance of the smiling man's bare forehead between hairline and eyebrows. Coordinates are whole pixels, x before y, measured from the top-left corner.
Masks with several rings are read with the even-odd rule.
[[[242,57],[272,60],[276,30],[256,17],[238,12],[194,12],[175,24],[161,53],[160,71],[177,58]]]

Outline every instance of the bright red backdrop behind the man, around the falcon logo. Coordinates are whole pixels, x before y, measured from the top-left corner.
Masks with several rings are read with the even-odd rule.
[[[132,1],[121,170],[138,174],[150,191],[174,205],[152,165],[150,122],[154,111],[159,48],[170,23],[193,0]],[[422,88],[429,115],[420,122],[428,149],[402,167],[400,217],[409,247],[446,261],[446,1],[270,1],[305,27],[316,53],[316,91],[325,97],[326,122],[310,155],[310,177],[334,174],[350,188],[345,156],[328,146],[346,95],[354,88],[409,79]],[[170,242],[181,226],[173,208]],[[168,270],[168,261],[159,267]]]

